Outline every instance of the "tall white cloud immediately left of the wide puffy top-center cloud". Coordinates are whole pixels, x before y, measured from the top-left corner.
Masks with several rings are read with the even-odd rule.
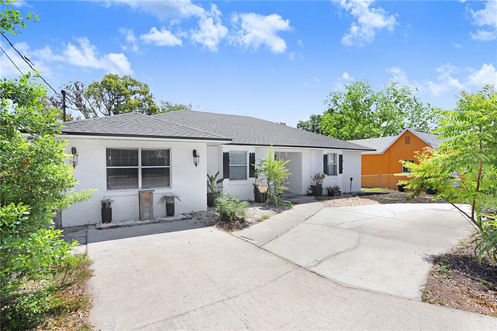
[[[202,44],[212,52],[217,52],[221,39],[228,34],[228,28],[221,24],[221,11],[215,4],[211,5],[209,15],[203,15],[198,20],[198,28],[191,30],[193,42]]]

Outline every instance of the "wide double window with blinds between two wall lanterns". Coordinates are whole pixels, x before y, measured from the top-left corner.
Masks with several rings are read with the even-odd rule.
[[[108,148],[107,189],[169,187],[170,150]]]

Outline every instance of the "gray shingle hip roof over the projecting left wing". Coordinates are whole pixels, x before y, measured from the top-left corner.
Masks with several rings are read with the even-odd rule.
[[[61,132],[69,135],[90,136],[231,140],[215,133],[140,113],[65,122]]]

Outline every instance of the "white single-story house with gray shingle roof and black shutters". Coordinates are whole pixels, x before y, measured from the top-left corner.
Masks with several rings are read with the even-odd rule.
[[[307,194],[316,172],[327,173],[323,187],[338,185],[348,192],[352,177],[352,191],[359,191],[361,152],[371,150],[253,117],[190,110],[66,122],[59,137],[67,140],[68,154],[77,154],[76,191],[96,189],[90,201],[62,212],[64,227],[99,223],[102,198],[114,201],[113,220],[138,219],[141,190],[154,191],[154,217],[166,215],[158,204],[166,193],[181,197],[176,214],[206,210],[206,174],[217,171],[223,191],[253,200],[252,164],[271,145],[277,158],[291,160],[289,192]]]

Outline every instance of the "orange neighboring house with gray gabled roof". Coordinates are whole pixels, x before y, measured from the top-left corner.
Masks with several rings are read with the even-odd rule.
[[[350,140],[351,143],[374,148],[374,152],[362,153],[362,187],[388,187],[397,189],[399,180],[406,177],[395,173],[408,172],[400,160],[416,162],[414,153],[425,147],[436,148],[442,143],[437,135],[425,131],[406,129],[398,136]]]

